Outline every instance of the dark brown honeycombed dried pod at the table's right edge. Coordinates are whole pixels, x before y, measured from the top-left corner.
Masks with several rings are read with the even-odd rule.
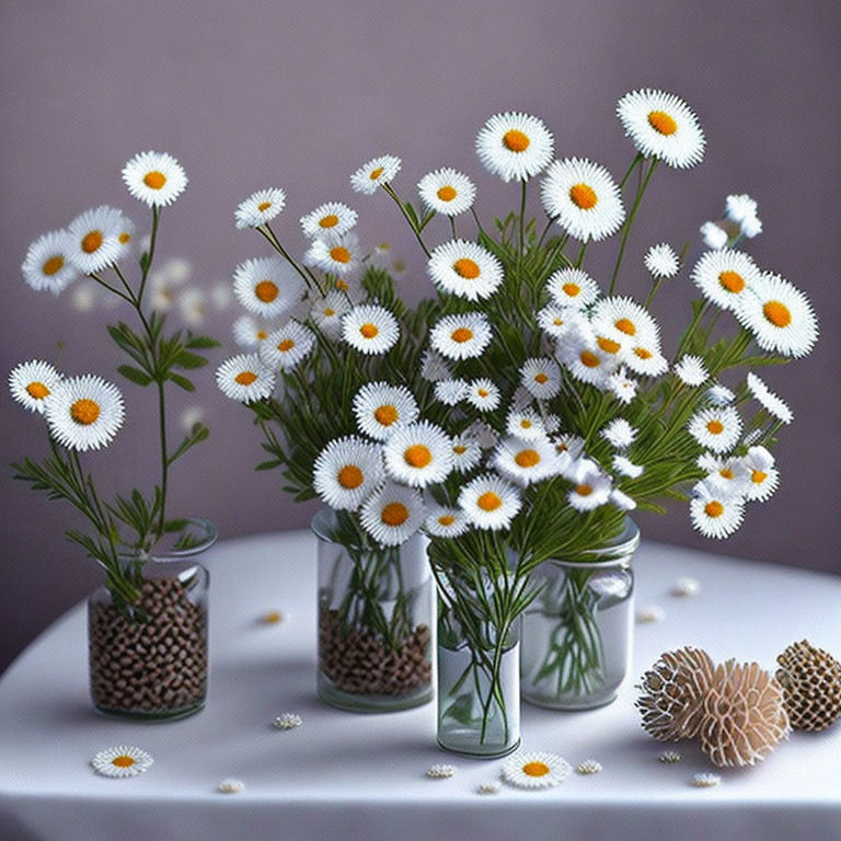
[[[796,730],[822,730],[841,716],[841,663],[804,640],[777,658],[785,708]]]

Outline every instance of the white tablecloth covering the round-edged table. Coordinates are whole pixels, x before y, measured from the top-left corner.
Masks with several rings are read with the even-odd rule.
[[[5,841],[169,839],[841,839],[841,723],[794,734],[753,769],[714,771],[696,746],[658,761],[664,746],[640,727],[629,688],[608,707],[561,714],[523,705],[526,750],[596,759],[603,771],[557,788],[480,795],[500,761],[451,757],[435,742],[435,707],[354,715],[314,694],[315,560],[307,532],[223,542],[211,573],[207,708],[182,722],[97,715],[88,698],[83,608],[48,629],[0,681],[0,838]],[[701,591],[669,594],[680,576]],[[657,655],[692,644],[715,659],[765,668],[794,640],[841,654],[841,578],[644,543],[637,606],[664,621],[637,625],[634,679]],[[277,609],[278,625],[260,622]],[[303,718],[273,729],[283,712]],[[127,780],[97,776],[100,749],[136,745],[154,764]],[[458,767],[430,780],[435,762]],[[224,777],[241,794],[217,793]]]

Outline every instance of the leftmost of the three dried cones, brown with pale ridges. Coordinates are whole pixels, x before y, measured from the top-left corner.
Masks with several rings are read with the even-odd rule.
[[[643,727],[655,739],[691,739],[701,725],[704,695],[713,678],[713,661],[701,648],[665,652],[643,675],[636,707]]]

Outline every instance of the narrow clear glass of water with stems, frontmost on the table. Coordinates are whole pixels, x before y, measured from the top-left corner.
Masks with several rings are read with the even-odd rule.
[[[504,757],[520,745],[520,618],[498,647],[493,629],[466,635],[438,603],[438,745],[468,757]]]

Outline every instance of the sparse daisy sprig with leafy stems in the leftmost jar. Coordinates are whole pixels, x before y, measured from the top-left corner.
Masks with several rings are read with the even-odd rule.
[[[122,210],[107,205],[87,210],[67,228],[35,240],[22,270],[33,289],[54,295],[87,276],[130,307],[134,325],[119,321],[108,333],[126,358],[117,371],[135,385],[152,388],[157,393],[160,476],[151,494],[135,488],[106,502],[83,463],[88,453],[106,447],[123,426],[125,404],[117,385],[95,375],[69,376],[43,360],[16,366],[9,383],[12,396],[46,422],[49,447],[45,458],[26,458],[13,464],[15,479],[46,492],[50,499],[70,503],[84,517],[89,529],[71,530],[68,538],[103,568],[114,603],[129,615],[142,617],[138,606],[148,553],[165,534],[174,535],[174,546],[182,551],[197,540],[186,520],[168,518],[169,473],[175,461],[207,438],[208,430],[196,423],[172,446],[166,392],[172,385],[194,391],[187,372],[206,365],[203,352],[218,343],[189,331],[168,334],[164,318],[148,301],[162,208],[184,191],[184,170],[170,154],[145,152],[128,161],[123,178],[129,193],[151,209],[148,245],[139,254],[135,273],[129,269],[135,224]]]

